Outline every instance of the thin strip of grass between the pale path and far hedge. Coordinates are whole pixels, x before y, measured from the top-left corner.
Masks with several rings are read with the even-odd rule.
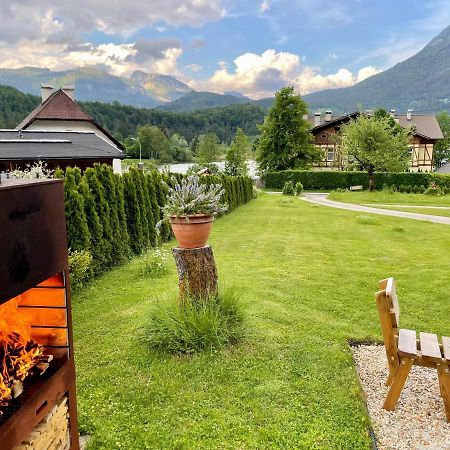
[[[450,195],[433,197],[424,194],[403,194],[401,192],[331,192],[330,200],[358,205],[380,203],[386,205],[417,205],[417,206],[450,206]]]

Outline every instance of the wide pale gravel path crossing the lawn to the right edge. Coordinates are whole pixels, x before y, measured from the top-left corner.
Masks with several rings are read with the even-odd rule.
[[[407,211],[394,211],[392,209],[372,208],[369,206],[353,205],[350,203],[335,202],[334,200],[328,200],[326,193],[314,194],[311,192],[303,194],[300,197],[310,203],[316,203],[323,206],[331,206],[332,208],[348,209],[349,211],[363,211],[370,214],[381,214],[383,216],[402,217],[404,219],[425,220],[428,222],[442,223],[450,225],[450,217],[445,216],[433,216],[430,214],[410,213]]]

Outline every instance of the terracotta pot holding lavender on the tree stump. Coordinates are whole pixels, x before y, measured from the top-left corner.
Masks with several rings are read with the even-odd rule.
[[[214,216],[196,214],[171,217],[170,225],[180,248],[197,248],[208,242],[213,221]]]

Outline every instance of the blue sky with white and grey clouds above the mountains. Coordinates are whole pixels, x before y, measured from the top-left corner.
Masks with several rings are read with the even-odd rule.
[[[264,97],[349,86],[419,51],[448,0],[0,0],[0,63],[173,75]]]

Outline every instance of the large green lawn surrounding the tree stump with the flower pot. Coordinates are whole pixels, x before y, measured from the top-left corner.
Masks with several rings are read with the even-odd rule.
[[[218,220],[210,243],[221,281],[242,292],[249,333],[217,354],[160,356],[141,344],[152,303],[176,295],[173,266],[142,278],[136,258],[79,291],[78,404],[90,449],[371,448],[347,340],[381,339],[373,294],[388,275],[402,327],[450,333],[450,230],[357,216],[263,194]]]

